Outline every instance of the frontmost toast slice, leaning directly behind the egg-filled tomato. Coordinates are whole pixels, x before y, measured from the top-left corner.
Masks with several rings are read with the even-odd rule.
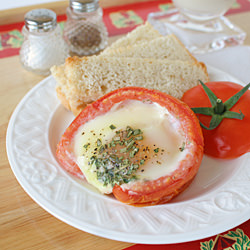
[[[203,63],[131,57],[70,57],[51,72],[58,98],[74,115],[117,88],[139,86],[181,98],[199,80],[208,81]]]

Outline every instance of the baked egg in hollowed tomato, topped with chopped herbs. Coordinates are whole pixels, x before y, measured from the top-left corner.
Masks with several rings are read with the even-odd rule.
[[[180,100],[138,87],[88,105],[57,147],[62,166],[101,193],[146,206],[185,190],[203,156],[198,119]]]

